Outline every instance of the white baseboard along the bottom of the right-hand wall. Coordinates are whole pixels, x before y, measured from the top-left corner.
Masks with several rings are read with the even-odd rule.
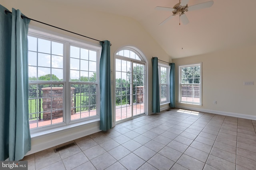
[[[196,108],[196,107],[187,107],[187,106],[180,106],[180,105],[176,105],[175,107],[180,108],[180,109],[187,109],[187,110],[193,110],[193,111],[202,111],[202,112],[214,113],[214,114],[218,114],[218,115],[226,115],[226,116],[256,120],[255,115],[246,115],[246,114],[232,113],[232,112],[227,112],[227,111],[201,109],[201,108]]]

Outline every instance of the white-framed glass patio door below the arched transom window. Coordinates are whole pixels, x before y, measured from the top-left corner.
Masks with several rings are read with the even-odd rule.
[[[145,64],[116,58],[116,121],[145,113]]]

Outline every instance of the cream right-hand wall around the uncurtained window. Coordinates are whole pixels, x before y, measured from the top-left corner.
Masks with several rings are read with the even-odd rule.
[[[176,103],[176,107],[256,119],[255,49],[256,44],[173,59],[176,64],[176,94],[178,66],[202,62],[202,106]],[[244,86],[247,81],[253,81],[254,86]]]

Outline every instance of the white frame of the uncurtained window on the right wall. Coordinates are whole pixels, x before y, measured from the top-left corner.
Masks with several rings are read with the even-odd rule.
[[[193,66],[200,66],[200,83],[199,84],[182,84],[182,68],[185,67],[193,67]],[[199,85],[199,102],[188,102],[188,101],[182,101],[182,86],[183,85],[188,85],[188,86],[194,86],[194,85]],[[194,94],[194,92],[193,92]],[[193,95],[194,96],[194,95]],[[193,97],[194,100],[194,97]],[[180,65],[179,66],[179,103],[184,103],[184,104],[194,104],[194,105],[200,105],[202,106],[202,63],[194,63],[194,64],[186,64],[186,65]]]

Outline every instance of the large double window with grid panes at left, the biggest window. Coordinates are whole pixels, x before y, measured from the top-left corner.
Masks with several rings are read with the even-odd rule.
[[[98,118],[100,46],[29,29],[30,129]]]

